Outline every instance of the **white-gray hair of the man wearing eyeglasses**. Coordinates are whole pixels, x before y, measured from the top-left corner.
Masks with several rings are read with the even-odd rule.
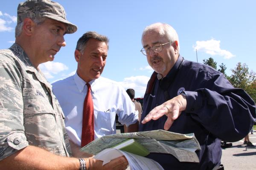
[[[147,34],[149,31],[152,31],[152,30],[157,30],[159,32],[159,34],[161,36],[166,36],[167,39],[173,43],[175,41],[178,42],[178,52],[180,51],[180,43],[179,43],[179,37],[178,37],[178,34],[177,32],[175,31],[174,28],[172,28],[172,26],[170,26],[169,24],[166,24],[166,23],[154,23],[154,24],[151,24],[150,26],[147,26],[144,30],[143,30],[143,34],[142,34],[142,37],[141,37],[141,42],[144,35]]]

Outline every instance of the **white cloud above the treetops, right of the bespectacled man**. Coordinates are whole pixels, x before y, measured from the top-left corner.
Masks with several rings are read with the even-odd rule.
[[[196,41],[196,45],[193,45],[194,50],[197,51],[204,51],[207,54],[210,54],[212,56],[219,55],[223,56],[224,59],[230,59],[232,57],[235,57],[230,51],[222,50],[220,48],[221,41],[218,40],[207,40],[207,41]]]

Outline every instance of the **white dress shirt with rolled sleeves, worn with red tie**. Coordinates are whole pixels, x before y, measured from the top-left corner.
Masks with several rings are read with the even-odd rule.
[[[138,112],[121,85],[104,77],[89,84],[93,98],[94,139],[116,133],[116,114],[119,122],[127,127],[137,122]],[[69,138],[80,146],[86,82],[76,73],[52,83],[52,91],[64,112]]]

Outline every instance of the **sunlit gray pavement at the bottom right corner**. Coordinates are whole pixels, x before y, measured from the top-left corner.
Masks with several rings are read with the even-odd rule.
[[[256,146],[256,131],[249,137],[250,142]],[[256,170],[256,147],[248,147],[243,143],[242,139],[222,150],[221,163],[224,170]]]

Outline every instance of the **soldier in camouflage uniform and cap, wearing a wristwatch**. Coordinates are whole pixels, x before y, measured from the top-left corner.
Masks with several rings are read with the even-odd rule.
[[[104,167],[93,158],[67,158],[71,151],[64,114],[38,65],[52,61],[66,45],[64,34],[76,30],[58,3],[28,0],[19,4],[15,44],[0,50],[1,170],[83,170],[86,166],[121,170],[127,166],[124,157]]]

